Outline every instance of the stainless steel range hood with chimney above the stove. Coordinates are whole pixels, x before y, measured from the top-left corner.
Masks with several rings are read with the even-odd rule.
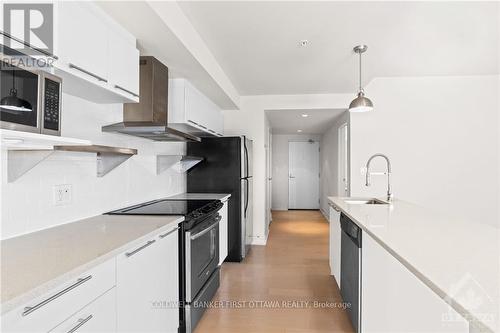
[[[139,103],[123,104],[123,122],[102,127],[154,141],[201,139],[168,126],[168,68],[154,57],[140,59]]]

